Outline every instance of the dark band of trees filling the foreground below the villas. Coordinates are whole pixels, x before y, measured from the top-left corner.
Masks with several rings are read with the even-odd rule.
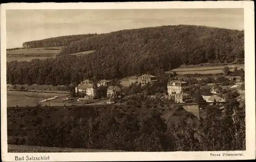
[[[245,150],[245,106],[235,101],[226,105],[225,113],[217,105],[205,106],[200,120],[180,106],[169,112],[170,120],[162,118],[167,112],[160,107],[105,108],[9,109],[8,144],[124,151]],[[31,131],[11,131],[15,128]]]

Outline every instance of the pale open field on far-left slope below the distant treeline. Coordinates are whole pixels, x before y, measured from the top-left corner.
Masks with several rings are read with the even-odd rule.
[[[9,62],[53,58],[60,52],[61,48],[62,47],[10,49],[6,50],[6,59],[7,62]]]

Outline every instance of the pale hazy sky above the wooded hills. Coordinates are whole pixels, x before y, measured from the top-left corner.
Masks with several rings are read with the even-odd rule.
[[[243,9],[6,10],[7,48],[51,37],[162,25],[244,30]]]

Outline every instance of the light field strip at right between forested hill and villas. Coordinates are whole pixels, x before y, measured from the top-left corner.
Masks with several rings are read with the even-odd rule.
[[[230,64],[230,65],[222,65],[222,66],[208,66],[208,67],[187,67],[182,66],[177,69],[170,70],[171,72],[176,71],[177,74],[193,74],[193,73],[200,73],[200,74],[214,74],[214,73],[221,73],[223,72],[224,67],[229,67],[230,71],[233,71],[235,67],[238,69],[244,69],[244,65],[240,64]]]

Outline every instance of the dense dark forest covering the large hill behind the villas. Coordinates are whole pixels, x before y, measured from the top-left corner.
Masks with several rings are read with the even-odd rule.
[[[67,38],[73,37],[79,38]],[[44,41],[38,42],[44,44]],[[87,50],[95,52],[79,57],[70,55]],[[182,64],[207,62],[243,63],[244,32],[176,25],[92,35],[70,42],[56,58],[8,62],[7,83],[66,85],[79,83],[84,78],[158,75]]]

